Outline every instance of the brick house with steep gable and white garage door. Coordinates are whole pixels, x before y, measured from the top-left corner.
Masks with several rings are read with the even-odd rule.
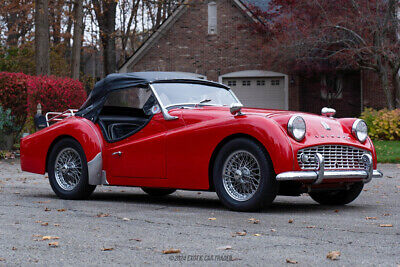
[[[265,36],[248,27],[257,21],[247,4],[261,0],[186,0],[120,67],[119,72],[178,71],[229,85],[245,106],[358,116],[364,105],[382,108],[371,74],[343,72],[332,77],[272,70],[262,49]],[[374,79],[372,79],[374,80]]]

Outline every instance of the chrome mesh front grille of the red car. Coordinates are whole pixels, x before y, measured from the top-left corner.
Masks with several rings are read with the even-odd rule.
[[[320,153],[324,157],[325,169],[365,169],[361,160],[363,154],[370,152],[351,146],[324,145],[301,149],[297,152],[297,161],[303,170],[315,170],[318,168],[315,154]],[[302,154],[308,161],[302,162]]]

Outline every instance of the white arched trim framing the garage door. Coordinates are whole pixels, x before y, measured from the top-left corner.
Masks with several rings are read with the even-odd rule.
[[[264,71],[264,70],[245,70],[245,71],[238,71],[238,72],[231,72],[224,75],[219,76],[218,81],[222,83],[223,79],[225,78],[258,78],[258,77],[265,77],[265,78],[283,78],[284,80],[284,94],[285,94],[285,109],[289,109],[289,82],[288,82],[288,75],[273,72],[273,71]]]

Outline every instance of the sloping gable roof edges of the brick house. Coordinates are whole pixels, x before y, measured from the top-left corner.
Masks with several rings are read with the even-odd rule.
[[[245,15],[256,23],[262,23],[249,8],[250,6],[257,6],[265,10],[270,0],[232,0],[237,7],[243,10]],[[188,8],[190,0],[183,0],[175,11],[158,27],[158,29],[150,35],[150,37],[129,57],[119,68],[119,72],[127,72],[127,66],[137,62],[146,51],[156,43],[162,36],[164,31],[167,31],[179,19],[183,12]]]

